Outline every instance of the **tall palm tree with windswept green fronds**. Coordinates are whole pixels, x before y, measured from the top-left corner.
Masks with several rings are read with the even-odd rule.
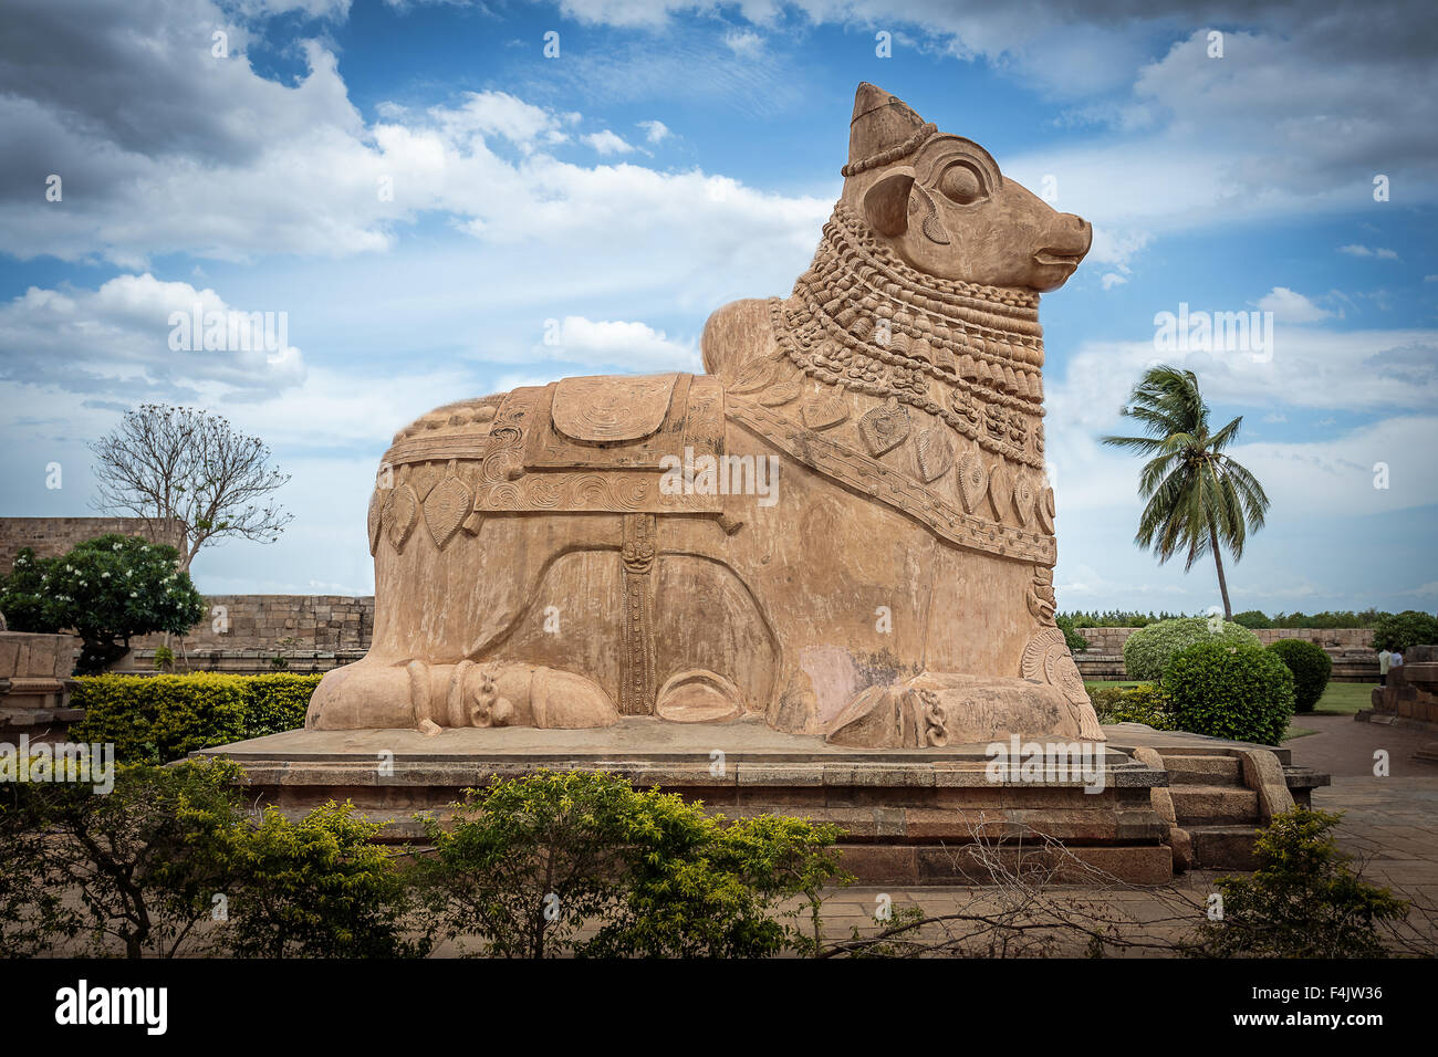
[[[1133,387],[1123,414],[1137,418],[1148,436],[1104,437],[1103,443],[1150,456],[1139,477],[1139,496],[1149,503],[1133,542],[1152,546],[1160,564],[1186,549],[1185,572],[1212,554],[1224,618],[1232,620],[1219,546],[1227,546],[1235,562],[1242,558],[1244,541],[1263,528],[1268,509],[1258,479],[1224,454],[1238,436],[1242,416],[1209,433],[1198,378],[1176,367],[1150,367]]]

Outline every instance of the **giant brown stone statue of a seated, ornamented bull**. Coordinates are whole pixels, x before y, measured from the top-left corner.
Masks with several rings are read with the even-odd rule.
[[[710,316],[706,374],[565,378],[395,436],[374,644],[308,726],[1103,736],[1054,626],[1038,325],[1091,230],[869,83],[843,174],[794,292]]]

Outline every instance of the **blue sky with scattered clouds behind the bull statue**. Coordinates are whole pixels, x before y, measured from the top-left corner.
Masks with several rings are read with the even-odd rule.
[[[144,400],[206,406],[273,447],[296,518],[206,551],[200,588],[370,592],[391,434],[516,384],[697,370],[709,312],[807,266],[867,79],[1094,224],[1041,312],[1061,608],[1217,603],[1211,564],[1132,545],[1137,465],[1096,443],[1163,358],[1244,416],[1273,499],[1235,610],[1432,610],[1432,6],[1073,7],[7,3],[0,515],[91,512],[88,440]],[[289,348],[171,351],[196,301],[285,312]],[[1271,360],[1160,355],[1181,303],[1273,312]]]

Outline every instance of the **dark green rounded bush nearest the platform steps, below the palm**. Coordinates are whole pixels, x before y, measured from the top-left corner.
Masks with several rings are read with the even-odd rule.
[[[1293,673],[1261,646],[1196,643],[1163,672],[1181,731],[1277,745],[1293,716]]]

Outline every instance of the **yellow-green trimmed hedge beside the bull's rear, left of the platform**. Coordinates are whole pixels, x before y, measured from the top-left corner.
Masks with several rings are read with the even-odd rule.
[[[85,709],[72,738],[114,742],[122,764],[181,759],[211,745],[305,725],[321,676],[85,676],[70,697]]]

